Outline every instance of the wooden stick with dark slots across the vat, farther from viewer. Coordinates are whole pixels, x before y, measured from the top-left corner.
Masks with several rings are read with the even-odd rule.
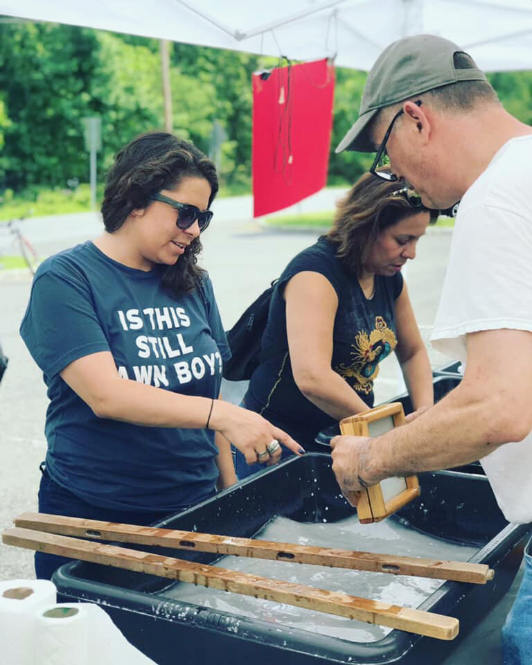
[[[232,554],[234,556],[291,561],[292,563],[307,563],[333,568],[366,570],[375,573],[411,575],[476,584],[486,584],[487,580],[493,579],[493,570],[484,564],[478,563],[438,561],[409,556],[357,552],[347,549],[312,547],[286,542],[270,542],[269,540],[231,538],[227,535],[156,529],[151,526],[135,526],[133,524],[114,524],[97,520],[82,520],[78,517],[46,515],[45,513],[24,513],[15,519],[15,525],[26,529],[73,535],[80,538],[131,542],[198,552]]]

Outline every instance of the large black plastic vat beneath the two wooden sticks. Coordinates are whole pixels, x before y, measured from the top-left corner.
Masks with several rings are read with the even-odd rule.
[[[53,581],[60,601],[103,605],[123,635],[158,665],[436,665],[511,586],[529,526],[504,520],[487,479],[480,475],[430,473],[420,476],[420,485],[420,499],[389,519],[402,520],[431,538],[474,545],[478,550],[470,560],[495,569],[495,579],[486,585],[446,582],[420,605],[460,620],[460,635],[452,642],[400,630],[368,643],[325,637],[169,600],[161,595],[173,584],[169,580],[85,562],[63,566]],[[339,495],[330,456],[311,453],[265,470],[159,526],[251,537],[276,515],[335,522],[351,514],[353,508]],[[357,542],[346,542],[345,547],[363,549]],[[204,563],[217,557],[153,551]]]

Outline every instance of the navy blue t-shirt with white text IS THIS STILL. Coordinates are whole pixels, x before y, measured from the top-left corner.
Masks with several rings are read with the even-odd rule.
[[[127,267],[85,242],[45,260],[33,281],[20,332],[48,388],[46,468],[94,506],[171,512],[215,488],[214,432],[98,418],[60,377],[110,351],[123,379],[218,397],[230,352],[211,281],[204,274],[174,296],[161,287],[164,269]]]

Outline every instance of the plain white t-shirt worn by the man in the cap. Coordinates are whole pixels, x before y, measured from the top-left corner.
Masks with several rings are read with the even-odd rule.
[[[460,203],[432,344],[464,365],[468,332],[532,331],[531,156],[532,135],[511,139]],[[481,463],[506,519],[532,522],[532,432]]]

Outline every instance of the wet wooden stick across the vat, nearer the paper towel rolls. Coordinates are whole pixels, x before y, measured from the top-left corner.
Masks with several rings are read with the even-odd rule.
[[[159,554],[18,527],[6,529],[2,540],[8,545],[264,598],[276,603],[287,603],[306,610],[336,614],[366,623],[378,623],[427,637],[454,639],[458,635],[458,619],[442,614],[402,608],[399,605],[238,573]]]

